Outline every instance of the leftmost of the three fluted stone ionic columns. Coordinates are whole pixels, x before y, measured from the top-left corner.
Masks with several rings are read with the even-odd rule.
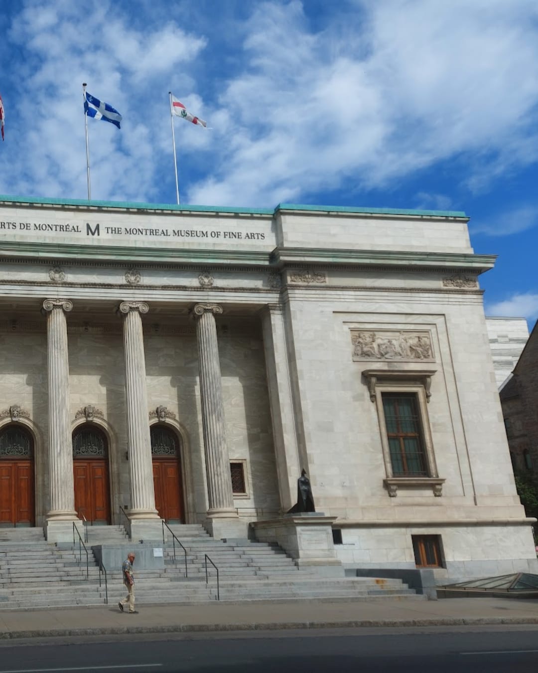
[[[67,320],[73,309],[68,299],[45,299],[47,315],[48,372],[48,469],[50,511],[47,522],[75,520],[73,489],[73,444],[69,423],[69,357],[67,353]]]

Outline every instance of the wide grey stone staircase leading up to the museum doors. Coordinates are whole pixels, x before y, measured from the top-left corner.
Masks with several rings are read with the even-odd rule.
[[[206,554],[219,568],[221,601],[425,600],[398,579],[323,577],[315,569],[297,567],[281,548],[266,542],[222,542],[196,525],[171,529],[186,548],[187,575],[184,551],[176,542],[174,560],[169,535],[164,547],[164,569],[137,570],[135,562],[137,604],[215,600],[217,573],[208,564],[206,584]],[[125,544],[128,538],[121,526],[89,526],[88,540],[87,577],[85,553],[82,551],[79,557],[78,542],[75,548],[62,550],[45,542],[40,529],[11,528],[7,533],[0,529],[0,610],[103,604],[104,579],[100,587],[91,544]],[[135,543],[132,548],[136,553]],[[126,591],[121,569],[107,570],[108,601],[114,605]]]

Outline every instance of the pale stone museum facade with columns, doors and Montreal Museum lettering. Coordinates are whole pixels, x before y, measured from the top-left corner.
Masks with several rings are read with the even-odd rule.
[[[464,213],[3,197],[0,250],[1,524],[535,571]]]

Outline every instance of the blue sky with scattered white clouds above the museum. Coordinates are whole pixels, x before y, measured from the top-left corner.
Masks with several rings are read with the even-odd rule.
[[[536,0],[6,0],[0,193],[464,210],[491,315],[538,317]]]

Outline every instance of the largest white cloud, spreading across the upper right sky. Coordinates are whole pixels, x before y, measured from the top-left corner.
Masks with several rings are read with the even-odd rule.
[[[462,153],[461,179],[477,189],[499,167],[537,159],[523,139],[538,103],[538,5],[356,7],[345,29],[340,17],[314,34],[301,3],[256,5],[245,66],[220,101],[231,119],[226,137],[239,140],[216,139],[213,169],[190,189],[192,203],[271,205],[283,192],[304,199],[387,186]]]

